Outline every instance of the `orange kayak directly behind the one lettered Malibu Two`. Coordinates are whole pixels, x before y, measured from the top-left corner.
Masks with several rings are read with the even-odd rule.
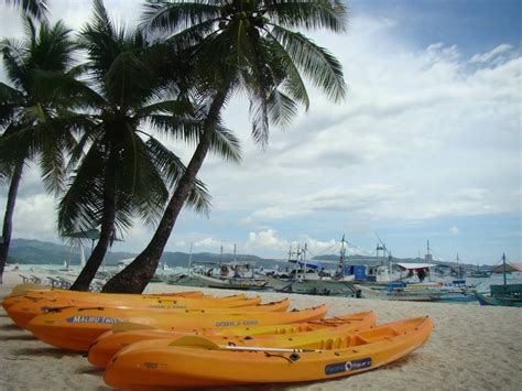
[[[261,302],[261,297],[237,300],[237,301],[218,301],[213,298],[186,298],[186,297],[168,297],[168,298],[151,298],[146,301],[135,302],[129,305],[118,304],[97,304],[84,302],[79,300],[26,300],[15,305],[11,305],[7,313],[11,319],[21,328],[25,328],[28,323],[35,316],[41,315],[48,309],[63,307],[89,307],[104,306],[113,308],[144,308],[144,309],[185,309],[185,308],[238,308],[238,307],[255,307]],[[282,303],[282,308],[276,311],[286,311],[290,301]]]

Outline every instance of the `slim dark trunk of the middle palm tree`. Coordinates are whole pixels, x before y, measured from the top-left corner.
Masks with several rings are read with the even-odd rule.
[[[104,194],[104,216],[101,220],[100,238],[93,250],[84,269],[79,273],[76,281],[70,286],[72,291],[88,291],[90,283],[96,276],[101,262],[104,261],[107,249],[112,239],[115,231],[116,219],[116,196],[115,196],[115,181],[111,175],[108,175],[106,181],[106,188]]]

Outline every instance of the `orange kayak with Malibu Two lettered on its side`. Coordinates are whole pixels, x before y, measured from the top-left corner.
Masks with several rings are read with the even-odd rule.
[[[87,351],[101,334],[120,322],[139,323],[174,332],[194,328],[227,328],[254,325],[276,325],[322,319],[328,307],[280,312],[237,312],[219,309],[183,309],[175,314],[167,311],[121,308],[64,308],[34,317],[28,329],[42,341],[70,350]]]

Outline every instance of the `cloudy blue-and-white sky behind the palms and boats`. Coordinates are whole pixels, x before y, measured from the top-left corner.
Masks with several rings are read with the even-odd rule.
[[[51,19],[86,23],[90,2],[52,0]],[[344,34],[307,32],[339,58],[348,94],[333,102],[314,88],[311,107],[260,150],[248,100],[224,118],[242,142],[240,164],[207,158],[208,216],[184,210],[167,251],[283,259],[291,245],[323,254],[346,235],[351,252],[379,242],[394,257],[496,264],[522,261],[522,52],[520,1],[348,1]],[[107,0],[132,23],[141,1]],[[0,3],[0,36],[20,36],[18,13]],[[6,76],[0,69],[0,80]],[[187,162],[193,149],[165,140]],[[7,186],[0,187],[3,215]],[[28,170],[15,238],[59,242],[56,199]],[[154,227],[139,221],[113,250],[140,251]]]

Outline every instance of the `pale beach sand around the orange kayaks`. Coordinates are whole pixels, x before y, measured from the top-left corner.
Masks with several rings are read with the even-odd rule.
[[[20,283],[4,274],[0,298]],[[148,292],[183,287],[150,284]],[[186,290],[186,289],[185,289]],[[203,290],[214,295],[233,291]],[[254,295],[255,293],[252,293]],[[380,369],[338,380],[292,387],[237,390],[520,390],[522,389],[522,308],[469,304],[405,303],[346,297],[262,293],[265,301],[290,297],[295,308],[327,303],[328,315],[372,309],[378,322],[429,315],[429,340],[406,358]],[[109,390],[102,371],[79,354],[53,348],[17,328],[0,309],[0,390]]]

